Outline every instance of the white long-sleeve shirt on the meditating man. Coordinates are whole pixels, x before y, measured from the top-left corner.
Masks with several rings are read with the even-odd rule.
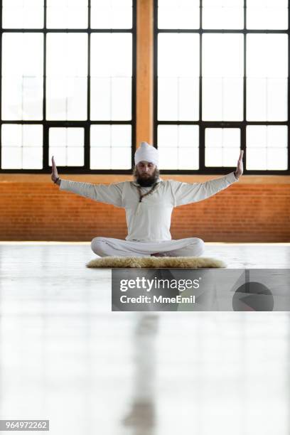
[[[126,240],[160,242],[171,240],[170,225],[174,207],[210,198],[236,181],[238,180],[233,172],[204,183],[163,181],[159,178],[156,190],[145,196],[141,203],[136,187],[138,184],[135,181],[105,185],[61,179],[60,190],[67,190],[100,203],[124,208],[128,227]],[[141,193],[146,193],[150,189],[151,187],[141,188]]]

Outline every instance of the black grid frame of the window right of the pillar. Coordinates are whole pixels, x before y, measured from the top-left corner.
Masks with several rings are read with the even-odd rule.
[[[282,33],[288,35],[288,90],[287,90],[287,99],[288,104],[287,107],[289,107],[290,103],[290,80],[289,80],[289,73],[290,73],[290,1],[288,2],[288,29],[286,30],[256,30],[256,29],[247,29],[247,0],[244,0],[244,28],[242,29],[203,29],[202,23],[203,23],[203,0],[200,0],[200,27],[196,29],[169,29],[169,28],[159,28],[158,24],[158,0],[154,0],[154,144],[156,144],[158,148],[158,127],[159,125],[198,125],[200,127],[200,135],[199,135],[199,146],[200,146],[200,153],[199,153],[199,169],[198,170],[176,170],[176,169],[164,169],[163,173],[181,173],[181,174],[194,174],[194,173],[200,173],[200,174],[224,174],[225,171],[234,171],[236,167],[205,167],[205,129],[206,128],[240,128],[241,129],[241,149],[244,150],[244,174],[248,175],[289,175],[290,174],[290,122],[289,122],[289,109],[288,109],[288,120],[287,122],[251,122],[246,121],[246,107],[247,107],[247,76],[246,76],[246,68],[247,68],[247,34],[250,33]],[[160,33],[198,33],[200,35],[200,74],[199,74],[199,121],[159,121],[158,119],[158,70],[157,70],[157,63],[158,63],[158,36]],[[208,122],[202,120],[202,104],[203,104],[203,93],[202,93],[202,48],[203,48],[203,34],[204,33],[239,33],[244,36],[244,77],[243,77],[243,120],[239,122]],[[246,128],[249,125],[284,125],[288,127],[288,169],[286,171],[269,171],[269,170],[254,170],[249,171],[246,169],[247,167],[247,149],[246,149]],[[238,155],[237,155],[238,159]]]

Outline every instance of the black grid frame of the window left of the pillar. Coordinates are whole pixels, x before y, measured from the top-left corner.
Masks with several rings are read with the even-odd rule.
[[[3,33],[42,33],[43,34],[43,120],[5,120],[2,121],[2,80],[0,80],[0,151],[1,151],[1,127],[2,124],[41,124],[43,125],[43,168],[42,169],[2,169],[0,152],[0,173],[51,173],[51,162],[48,164],[48,130],[50,127],[83,127],[85,130],[85,148],[83,167],[80,166],[59,166],[61,173],[130,173],[130,169],[90,169],[90,126],[94,124],[126,124],[131,126],[131,166],[134,165],[134,143],[136,137],[136,0],[132,0],[132,27],[131,28],[90,28],[91,23],[91,0],[88,0],[88,26],[87,28],[46,28],[46,6],[47,0],[43,0],[43,28],[2,28],[2,0],[0,0],[0,49],[2,53]],[[46,36],[47,33],[87,33],[87,120],[86,121],[50,121],[46,119]],[[92,33],[131,33],[132,35],[132,79],[131,79],[131,120],[129,121],[92,121],[90,120],[90,36]],[[2,64],[0,61],[0,77],[2,75]]]

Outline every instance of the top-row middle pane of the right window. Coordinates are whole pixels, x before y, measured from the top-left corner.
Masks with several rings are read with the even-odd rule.
[[[244,28],[244,0],[203,0],[203,28]]]

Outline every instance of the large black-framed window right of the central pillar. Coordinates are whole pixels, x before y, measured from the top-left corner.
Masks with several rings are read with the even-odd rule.
[[[289,172],[289,2],[155,0],[161,169]]]

